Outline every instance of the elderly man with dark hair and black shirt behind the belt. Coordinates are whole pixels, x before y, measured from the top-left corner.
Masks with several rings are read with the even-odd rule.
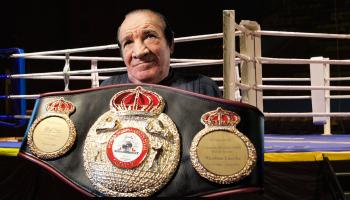
[[[174,33],[162,14],[148,9],[129,12],[118,29],[118,44],[128,72],[103,81],[101,86],[152,83],[221,97],[209,77],[181,74],[170,67]]]

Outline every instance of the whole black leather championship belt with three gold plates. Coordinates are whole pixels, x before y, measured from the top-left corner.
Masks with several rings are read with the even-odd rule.
[[[262,191],[263,132],[248,104],[111,85],[41,95],[18,155],[87,196],[214,197]]]

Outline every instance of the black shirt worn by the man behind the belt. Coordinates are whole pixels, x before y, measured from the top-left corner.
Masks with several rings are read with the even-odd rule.
[[[123,83],[132,83],[129,80],[127,73],[112,76],[111,78],[104,80],[101,83],[101,86]],[[176,72],[172,68],[170,68],[169,75],[158,84],[208,96],[222,97],[218,85],[209,77],[201,74],[183,74]]]

